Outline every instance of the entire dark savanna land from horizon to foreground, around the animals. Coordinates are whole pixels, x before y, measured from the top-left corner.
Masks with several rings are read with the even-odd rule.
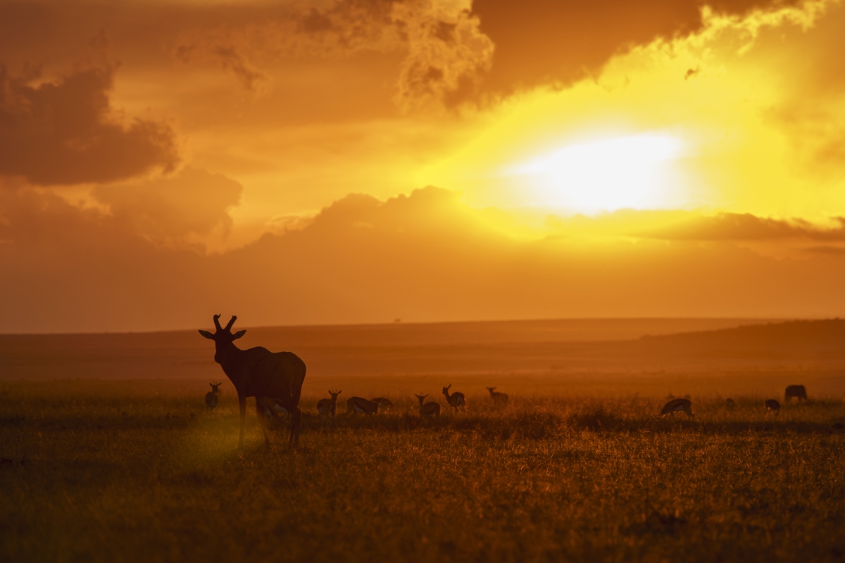
[[[194,331],[0,336],[0,560],[845,560],[845,322],[739,323],[248,329],[308,365],[297,449],[252,398],[238,449]]]

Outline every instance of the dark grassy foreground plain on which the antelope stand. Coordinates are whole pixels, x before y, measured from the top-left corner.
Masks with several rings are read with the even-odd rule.
[[[231,387],[206,413],[207,382],[8,382],[0,560],[845,560],[841,395],[774,417],[700,386],[695,421],[656,420],[631,382],[499,378],[507,407],[420,420],[423,381],[395,382],[385,414],[306,416],[296,451],[252,409],[239,451]],[[341,383],[345,411],[353,382],[312,383],[303,409]]]

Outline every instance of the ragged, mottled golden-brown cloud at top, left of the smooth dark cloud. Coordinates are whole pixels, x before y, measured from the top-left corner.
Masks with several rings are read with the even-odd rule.
[[[348,0],[303,7],[242,26],[191,30],[174,56],[182,62],[215,58],[246,89],[267,76],[254,60],[308,57],[348,59],[368,52],[401,54],[395,101],[404,110],[456,105],[477,94],[493,60],[493,43],[477,17],[426,0]]]

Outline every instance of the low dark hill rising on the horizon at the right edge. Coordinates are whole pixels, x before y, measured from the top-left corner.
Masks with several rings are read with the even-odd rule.
[[[647,348],[677,352],[833,352],[845,350],[845,320],[768,322],[693,333],[643,336],[640,342]]]

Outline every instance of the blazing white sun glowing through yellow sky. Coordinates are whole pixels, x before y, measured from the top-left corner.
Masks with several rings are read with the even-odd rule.
[[[660,208],[673,190],[679,138],[642,133],[573,143],[510,167],[508,176],[530,192],[532,205],[581,213]]]

